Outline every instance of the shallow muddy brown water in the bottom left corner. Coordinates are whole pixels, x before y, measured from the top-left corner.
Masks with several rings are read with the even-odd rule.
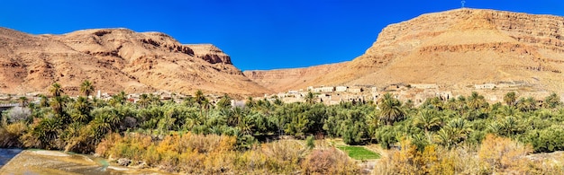
[[[8,162],[2,162],[7,160]],[[0,175],[4,174],[168,174],[154,170],[139,170],[114,166],[105,159],[83,154],[68,154],[45,150],[0,149]]]

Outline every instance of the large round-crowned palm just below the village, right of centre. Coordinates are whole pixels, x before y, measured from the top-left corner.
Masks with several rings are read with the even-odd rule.
[[[384,98],[380,100],[380,120],[387,125],[393,125],[394,122],[402,120],[405,112],[401,109],[402,103],[392,97],[391,93],[384,94]]]

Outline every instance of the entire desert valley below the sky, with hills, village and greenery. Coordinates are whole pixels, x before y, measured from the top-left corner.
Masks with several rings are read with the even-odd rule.
[[[0,27],[0,147],[84,156],[26,150],[0,174],[33,156],[77,174],[564,173],[564,17],[426,13],[350,61],[276,70],[173,37]]]

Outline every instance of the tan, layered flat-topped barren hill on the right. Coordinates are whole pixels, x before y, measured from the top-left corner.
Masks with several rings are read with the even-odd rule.
[[[316,67],[320,72],[310,73],[315,78],[296,78],[299,69],[245,74],[285,91],[307,85],[437,83],[456,90],[524,83],[533,91],[564,92],[564,18],[478,9],[423,14],[387,26],[364,55],[340,65]],[[272,76],[266,74],[307,83],[277,84],[263,79]]]

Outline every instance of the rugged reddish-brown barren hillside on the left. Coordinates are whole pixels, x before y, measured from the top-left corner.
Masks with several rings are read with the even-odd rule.
[[[30,35],[0,28],[0,92],[46,92],[60,83],[70,94],[80,82],[102,92],[269,92],[232,66],[213,45],[183,45],[159,32],[127,29]]]

